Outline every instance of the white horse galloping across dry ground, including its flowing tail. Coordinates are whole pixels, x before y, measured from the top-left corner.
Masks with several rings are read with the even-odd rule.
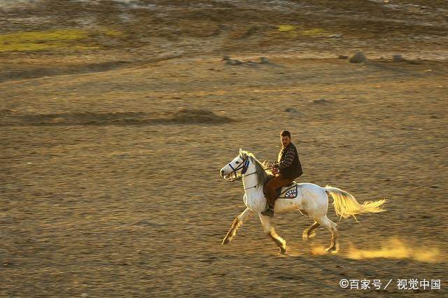
[[[221,169],[221,177],[226,180],[230,178],[242,178],[244,187],[243,200],[247,207],[246,210],[233,220],[229,232],[223,239],[223,245],[230,243],[233,237],[235,237],[235,234],[237,234],[237,229],[255,213],[260,218],[265,234],[279,246],[281,253],[286,253],[286,241],[276,234],[269,217],[261,214],[266,206],[263,185],[271,174],[266,164],[260,163],[251,152],[241,149],[239,149],[239,155]],[[290,187],[285,187],[284,189],[286,190],[287,188]],[[295,194],[295,192],[293,193]],[[305,213],[309,218],[314,220],[312,225],[304,229],[302,234],[303,241],[307,241],[311,236],[314,236],[313,231],[319,225],[327,227],[331,232],[331,244],[325,250],[336,253],[339,250],[337,225],[327,217],[328,194],[331,194],[334,200],[333,205],[339,217],[349,218],[353,216],[355,220],[355,215],[361,213],[384,211],[381,205],[384,204],[386,199],[366,201],[364,204],[359,204],[348,192],[339,190],[336,187],[320,187],[312,183],[297,183],[297,195],[292,199],[276,199],[274,205],[275,214],[298,210],[300,213]]]

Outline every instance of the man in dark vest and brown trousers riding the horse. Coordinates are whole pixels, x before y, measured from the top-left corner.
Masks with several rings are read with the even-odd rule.
[[[291,134],[287,130],[280,133],[282,148],[279,152],[278,162],[272,164],[274,177],[267,181],[263,192],[267,199],[266,209],[262,215],[274,216],[274,203],[277,198],[276,189],[293,183],[295,178],[302,175],[302,165],[300,164],[297,148],[291,143]]]

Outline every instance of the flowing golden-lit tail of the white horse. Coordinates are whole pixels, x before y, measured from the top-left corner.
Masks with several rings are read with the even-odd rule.
[[[337,187],[325,186],[325,192],[331,194],[333,197],[333,206],[335,206],[336,214],[341,218],[349,218],[353,216],[356,220],[356,216],[361,213],[377,213],[384,211],[381,205],[386,202],[386,199],[379,199],[378,201],[365,201],[363,204],[359,204],[348,192],[339,190]]]

